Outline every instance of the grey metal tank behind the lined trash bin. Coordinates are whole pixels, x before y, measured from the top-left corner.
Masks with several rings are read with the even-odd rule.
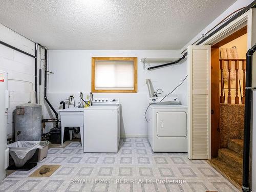
[[[41,105],[17,105],[15,114],[15,141],[41,141]]]

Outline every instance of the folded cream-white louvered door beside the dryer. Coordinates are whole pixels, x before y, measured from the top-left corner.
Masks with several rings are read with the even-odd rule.
[[[188,46],[188,158],[210,159],[210,46]]]

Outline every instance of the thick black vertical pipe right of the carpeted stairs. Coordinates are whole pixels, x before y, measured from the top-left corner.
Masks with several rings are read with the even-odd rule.
[[[245,80],[245,109],[244,109],[244,152],[243,152],[243,192],[250,191],[250,132],[251,132],[251,104],[252,104],[252,56],[256,44],[246,53],[246,80]]]

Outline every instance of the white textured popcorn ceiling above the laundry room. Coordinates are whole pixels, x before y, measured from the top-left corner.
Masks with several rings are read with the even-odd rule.
[[[235,0],[0,0],[0,23],[49,49],[180,49]]]

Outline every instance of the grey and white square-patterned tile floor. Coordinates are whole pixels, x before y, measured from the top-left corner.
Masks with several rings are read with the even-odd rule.
[[[28,178],[43,164],[61,166],[49,178]],[[164,183],[178,180],[185,182]],[[121,139],[117,154],[84,154],[78,142],[50,148],[37,167],[16,171],[0,183],[0,191],[206,190],[239,191],[205,161],[190,161],[186,153],[154,153],[145,138]]]

